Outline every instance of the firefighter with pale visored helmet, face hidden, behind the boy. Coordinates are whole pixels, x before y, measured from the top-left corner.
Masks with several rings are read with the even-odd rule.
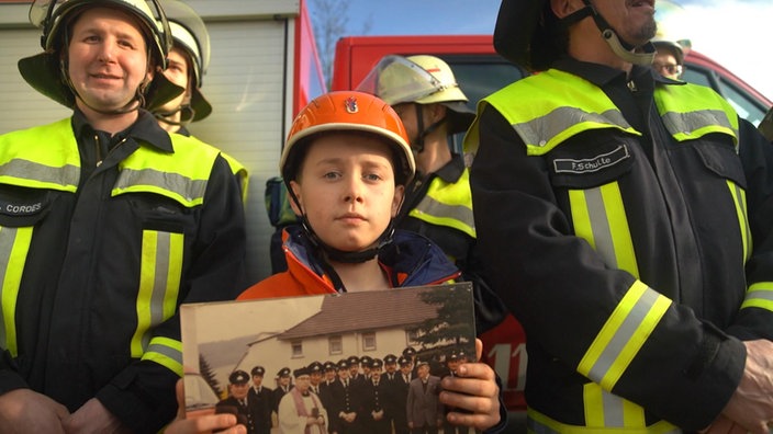
[[[470,173],[449,141],[474,118],[453,71],[442,59],[417,55],[386,56],[358,85],[400,115],[416,158],[417,174],[405,189],[396,220],[401,229],[421,233],[442,249],[462,277],[475,285],[475,327],[483,333],[504,320],[506,311],[482,276],[475,249]]]

